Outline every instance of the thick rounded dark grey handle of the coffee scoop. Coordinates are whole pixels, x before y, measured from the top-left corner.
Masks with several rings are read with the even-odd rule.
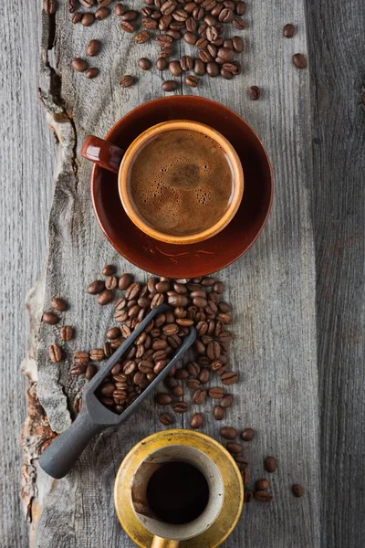
[[[82,407],[72,425],[57,436],[39,457],[40,467],[52,478],[63,478],[74,466],[89,441],[104,428],[93,423],[86,406]]]

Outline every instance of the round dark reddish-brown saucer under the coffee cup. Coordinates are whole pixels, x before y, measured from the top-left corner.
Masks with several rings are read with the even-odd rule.
[[[170,278],[194,278],[224,269],[245,253],[266,224],[273,196],[273,174],[262,142],[234,111],[203,97],[174,95],[130,111],[106,139],[126,149],[141,132],[167,120],[210,125],[230,141],[245,173],[245,193],[234,219],[219,234],[198,244],[166,244],[145,235],[120,203],[118,175],[95,165],[91,195],[104,234],[120,255],[141,269]]]

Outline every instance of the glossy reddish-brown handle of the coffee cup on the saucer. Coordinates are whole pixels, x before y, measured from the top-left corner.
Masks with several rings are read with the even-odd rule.
[[[123,155],[124,151],[118,146],[95,135],[88,135],[81,147],[81,156],[114,174],[120,170]]]

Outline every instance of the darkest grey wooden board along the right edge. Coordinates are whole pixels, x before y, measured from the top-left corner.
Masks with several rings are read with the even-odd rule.
[[[322,546],[360,546],[365,536],[364,25],[361,0],[308,2]]]

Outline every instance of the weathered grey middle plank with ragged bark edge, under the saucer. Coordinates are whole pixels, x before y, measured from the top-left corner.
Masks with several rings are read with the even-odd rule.
[[[155,48],[132,45],[130,36],[120,34],[114,17],[89,28],[72,26],[65,4],[60,3],[57,12],[54,58],[60,96],[68,115],[72,113],[72,123],[57,113],[57,120],[62,121],[57,131],[64,137],[64,159],[50,216],[46,302],[58,294],[71,303],[67,321],[78,326],[71,348],[81,349],[102,342],[110,324],[110,309],[100,310],[85,291],[102,265],[113,260],[120,269],[140,277],[145,274],[117,257],[102,237],[91,211],[90,166],[79,161],[79,146],[89,132],[105,134],[133,106],[160,96],[161,78],[155,71],[139,73],[138,86],[120,90],[120,75],[135,73],[142,54],[156,58]],[[134,5],[137,2],[130,2]],[[287,20],[298,25],[292,41],[281,37]],[[46,56],[47,19],[44,29]],[[92,37],[99,37],[104,47],[95,60],[102,67],[101,75],[89,81],[74,73],[69,62],[83,54]],[[314,248],[308,195],[312,177],[310,98],[308,71],[297,71],[291,64],[293,53],[307,51],[303,2],[249,5],[245,37],[244,75],[232,82],[205,80],[198,90],[185,86],[181,90],[213,97],[244,116],[263,138],[276,178],[276,201],[266,231],[245,258],[220,274],[235,308],[234,361],[242,377],[234,389],[236,404],[229,422],[250,425],[258,432],[250,449],[255,478],[262,475],[267,453],[279,458],[273,478],[276,502],[269,508],[255,505],[247,509],[224,545],[241,546],[245,538],[247,545],[255,547],[293,543],[315,547],[319,546],[319,456]],[[47,79],[47,70],[44,75]],[[264,90],[263,99],[256,103],[246,95],[252,84]],[[43,87],[43,96],[48,110],[54,111],[47,87]],[[51,426],[60,431],[69,424],[65,394],[72,398],[79,384],[70,379],[67,362],[59,367],[47,363],[46,349],[56,336],[57,329],[41,328],[38,372],[41,402]],[[208,413],[206,417],[204,430],[216,436],[218,425]],[[35,545],[131,546],[114,516],[113,480],[126,451],[158,428],[154,407],[147,402],[138,421],[102,434],[66,479],[43,482],[46,495]],[[294,481],[306,486],[301,501],[290,494]]]

